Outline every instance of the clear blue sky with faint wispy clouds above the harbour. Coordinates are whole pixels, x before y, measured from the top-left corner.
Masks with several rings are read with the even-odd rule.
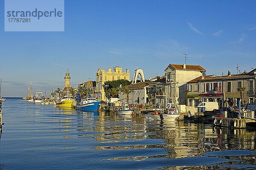
[[[65,0],[64,32],[4,32],[0,1],[3,96],[95,80],[102,69],[164,75],[169,63],[201,65],[207,74],[256,67],[256,1]]]

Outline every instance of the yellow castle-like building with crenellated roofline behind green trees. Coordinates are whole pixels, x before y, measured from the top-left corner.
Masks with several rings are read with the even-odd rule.
[[[104,83],[106,81],[124,79],[130,81],[130,73],[129,69],[126,69],[126,72],[122,72],[122,67],[115,66],[113,67],[113,72],[111,68],[108,68],[106,72],[105,69],[101,69],[98,67],[98,71],[96,72],[96,89],[95,89],[95,97],[99,101],[106,101],[105,95],[105,87]]]

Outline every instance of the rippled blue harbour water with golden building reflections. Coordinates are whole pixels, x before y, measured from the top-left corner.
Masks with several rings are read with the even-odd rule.
[[[3,103],[0,169],[256,169],[256,133]]]

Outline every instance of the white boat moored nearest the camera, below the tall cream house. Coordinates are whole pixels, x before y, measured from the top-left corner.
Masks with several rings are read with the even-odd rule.
[[[180,113],[175,109],[174,104],[168,103],[167,110],[163,112],[154,111],[152,114],[146,114],[145,118],[157,121],[176,121],[179,116]]]

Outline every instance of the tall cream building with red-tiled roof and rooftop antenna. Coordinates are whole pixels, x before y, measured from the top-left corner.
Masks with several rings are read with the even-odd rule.
[[[164,70],[166,73],[166,83],[169,84],[169,96],[172,103],[185,104],[186,95],[183,90],[187,89],[187,82],[203,76],[206,70],[199,65],[172,64],[170,63]]]

